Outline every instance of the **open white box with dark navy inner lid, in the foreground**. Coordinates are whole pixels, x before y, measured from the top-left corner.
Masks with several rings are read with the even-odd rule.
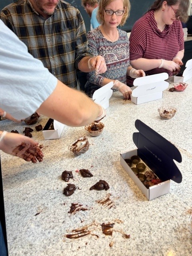
[[[135,121],[135,127],[139,130],[133,134],[137,149],[120,154],[120,163],[146,198],[152,200],[170,191],[170,180],[182,181],[182,174],[173,161],[182,162],[182,157],[172,143],[140,120]],[[139,156],[162,182],[146,188],[125,161],[132,156]]]

